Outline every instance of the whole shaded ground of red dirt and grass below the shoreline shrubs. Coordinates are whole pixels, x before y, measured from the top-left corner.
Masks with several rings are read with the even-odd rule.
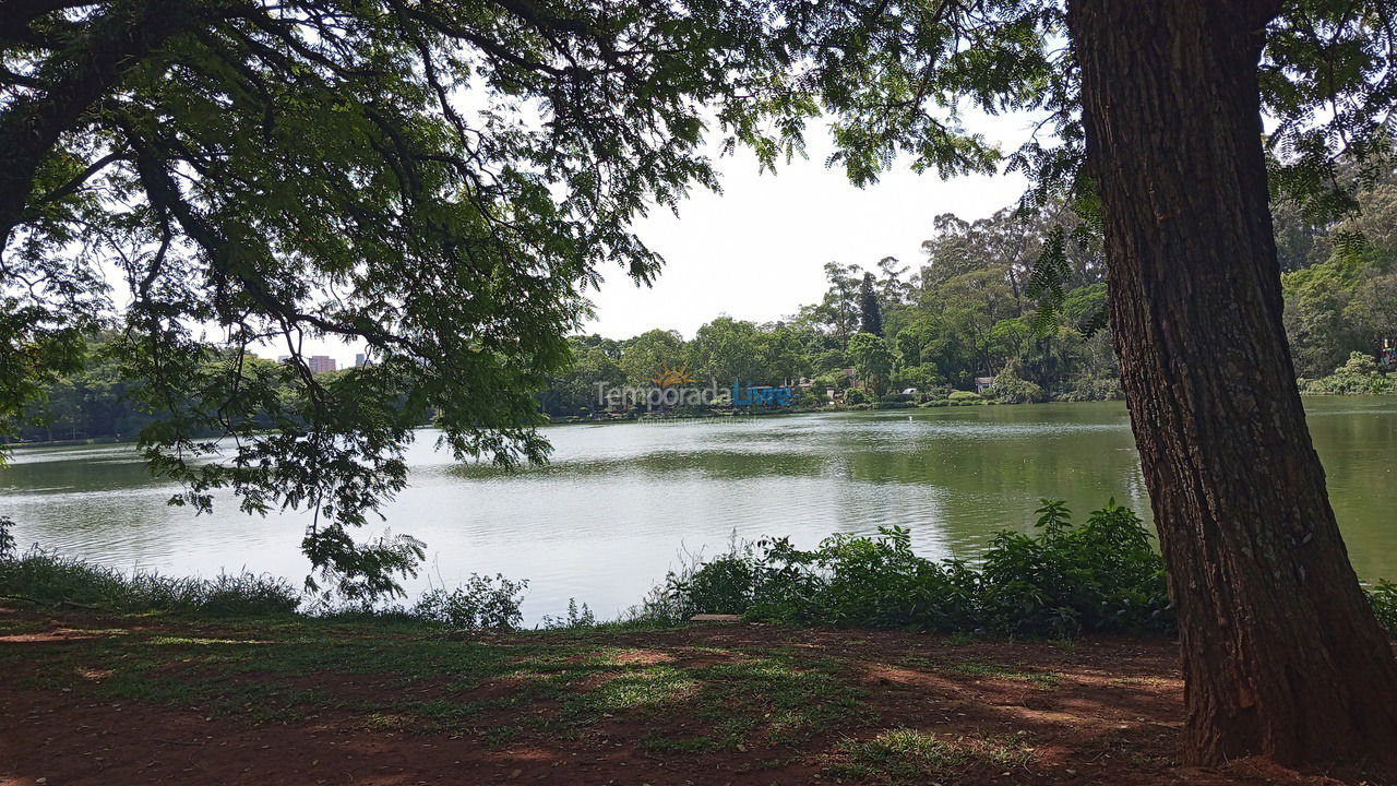
[[[1165,639],[0,608],[0,785],[1333,783],[1178,764]]]

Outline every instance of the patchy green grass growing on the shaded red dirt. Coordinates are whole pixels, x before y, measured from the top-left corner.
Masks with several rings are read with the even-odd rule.
[[[337,710],[366,729],[476,734],[496,745],[521,729],[576,737],[616,717],[655,722],[645,744],[678,752],[796,745],[876,715],[841,680],[841,662],[784,650],[652,653],[612,643],[631,635],[613,631],[479,638],[310,617],[123,621],[103,620],[81,645],[25,660],[27,684],[82,681],[113,699],[250,723]],[[24,652],[0,646],[0,662]],[[682,734],[659,726],[675,710],[689,719]]]

